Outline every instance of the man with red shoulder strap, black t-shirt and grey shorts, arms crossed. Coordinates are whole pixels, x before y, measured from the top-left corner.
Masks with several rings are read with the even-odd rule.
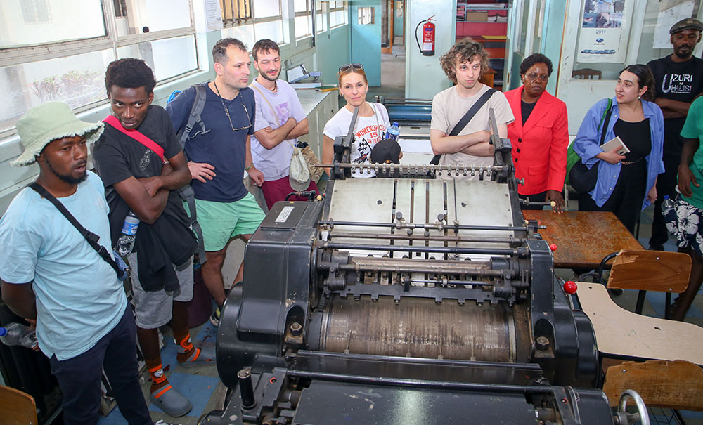
[[[214,351],[195,348],[188,332],[196,244],[177,190],[190,183],[191,174],[169,115],[151,105],[155,84],[141,59],[108,65],[105,88],[112,116],[105,119],[93,159],[107,192],[113,242],[128,211],[141,221],[135,252],[129,254],[137,336],[151,375],[151,403],[179,417],[193,406],[164,374],[158,328],[171,326],[183,367],[212,360]]]

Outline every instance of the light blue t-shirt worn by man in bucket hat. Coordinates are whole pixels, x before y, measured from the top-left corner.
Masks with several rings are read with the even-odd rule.
[[[58,198],[84,228],[110,249],[103,182],[88,171],[76,192]],[[0,218],[0,278],[34,281],[37,339],[49,358],[67,360],[92,348],[120,322],[127,307],[122,282],[110,265],[54,207],[23,189]]]

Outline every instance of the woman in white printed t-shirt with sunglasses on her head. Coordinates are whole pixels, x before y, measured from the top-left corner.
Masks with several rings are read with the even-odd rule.
[[[363,72],[361,63],[349,63],[340,67],[337,74],[340,82],[340,93],[347,100],[347,105],[330,118],[323,132],[322,162],[332,164],[334,160],[335,137],[344,136],[349,132],[354,108],[359,107],[359,116],[354,125],[354,143],[352,143],[352,164],[370,163],[373,146],[383,139],[383,133],[390,127],[388,112],[380,103],[366,102],[368,80]],[[368,172],[370,171],[370,173]],[[329,175],[330,169],[325,169]],[[352,177],[375,177],[373,170],[352,170]]]

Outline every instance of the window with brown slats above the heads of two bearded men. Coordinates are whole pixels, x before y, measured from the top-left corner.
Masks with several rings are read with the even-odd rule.
[[[258,39],[283,43],[283,17],[280,0],[220,0],[224,37],[235,37],[247,48]]]

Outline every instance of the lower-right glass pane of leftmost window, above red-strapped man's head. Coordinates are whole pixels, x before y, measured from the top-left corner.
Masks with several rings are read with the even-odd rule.
[[[117,57],[143,59],[154,71],[156,81],[163,81],[198,68],[193,35],[120,47],[117,49]]]

